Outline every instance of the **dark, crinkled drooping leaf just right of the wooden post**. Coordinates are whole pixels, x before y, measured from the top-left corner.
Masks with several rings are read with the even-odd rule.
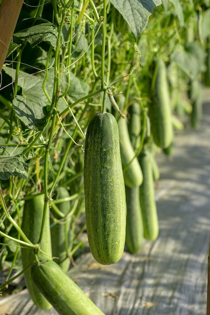
[[[45,22],[15,33],[13,35],[13,41],[21,44],[26,44],[28,42],[32,48],[40,42],[47,42],[52,45],[52,47],[56,47],[57,30],[54,25]]]

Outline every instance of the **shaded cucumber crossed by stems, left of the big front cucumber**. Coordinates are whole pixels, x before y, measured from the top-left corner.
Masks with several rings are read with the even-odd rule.
[[[55,190],[55,199],[68,198],[69,192],[65,187],[58,187]],[[67,215],[71,208],[71,202],[69,200],[56,204],[58,209]],[[61,267],[64,272],[67,272],[70,266],[70,259],[68,257],[68,251],[70,246],[70,234],[71,234],[71,217],[60,218],[60,216],[51,208],[52,215],[60,221],[52,225],[51,222],[51,243],[52,243],[52,256],[58,259],[55,262]]]

